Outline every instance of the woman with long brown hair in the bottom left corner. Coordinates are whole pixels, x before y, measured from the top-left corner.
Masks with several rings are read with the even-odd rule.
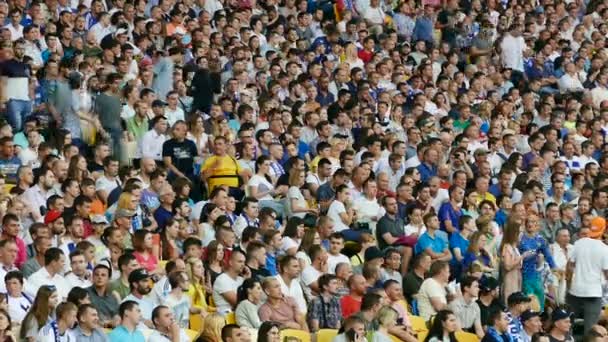
[[[53,311],[58,304],[59,293],[57,293],[57,288],[54,285],[41,286],[30,311],[23,319],[19,338],[27,342],[36,341],[40,329],[53,319]]]

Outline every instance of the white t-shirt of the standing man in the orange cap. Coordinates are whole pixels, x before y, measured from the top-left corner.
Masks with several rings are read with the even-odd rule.
[[[576,297],[602,297],[604,271],[608,270],[608,246],[600,240],[579,239],[574,243],[570,261],[575,267],[569,293]]]

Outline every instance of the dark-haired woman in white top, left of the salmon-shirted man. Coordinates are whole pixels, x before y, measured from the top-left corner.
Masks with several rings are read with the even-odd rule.
[[[237,302],[234,311],[236,323],[245,328],[259,329],[262,325],[258,310],[262,304],[262,285],[255,278],[245,279],[237,291]]]

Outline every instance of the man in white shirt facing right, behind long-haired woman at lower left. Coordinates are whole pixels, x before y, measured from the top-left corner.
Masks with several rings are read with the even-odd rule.
[[[36,297],[38,289],[43,285],[52,284],[57,288],[61,300],[68,297],[72,286],[61,275],[65,267],[65,255],[59,248],[49,248],[44,253],[44,267],[32,274],[25,285],[25,293],[32,298]]]

